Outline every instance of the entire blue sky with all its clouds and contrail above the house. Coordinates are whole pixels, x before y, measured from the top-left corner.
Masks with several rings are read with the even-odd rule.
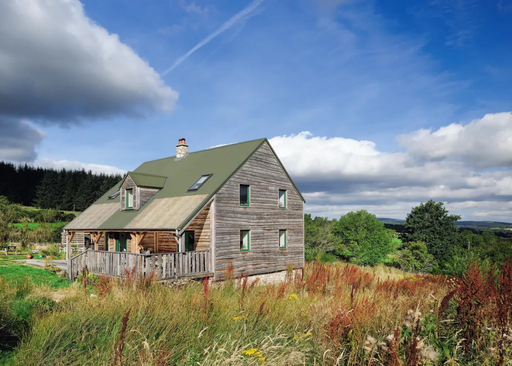
[[[0,160],[267,137],[313,217],[512,222],[512,0],[7,0],[0,34]]]

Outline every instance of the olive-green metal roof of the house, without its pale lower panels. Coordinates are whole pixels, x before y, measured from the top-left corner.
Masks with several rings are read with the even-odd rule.
[[[260,148],[264,142],[268,143],[268,140],[263,138],[213,147],[188,153],[186,157],[179,160],[175,160],[176,157],[172,156],[146,161],[134,171],[128,172],[127,175],[129,175],[137,185],[157,187],[154,184],[160,184],[162,188],[139,210],[116,211],[110,218],[106,219],[98,229],[118,229],[125,227],[137,216],[139,212],[151,207],[150,203],[152,200],[169,197],[207,195],[201,204],[198,205],[197,209],[183,220],[179,227],[176,228],[181,229],[182,226],[195,216],[198,210],[200,210],[211,199],[211,197],[215,195],[215,193],[231,178],[234,173],[238,171],[238,169],[258,148]],[[272,149],[270,143],[268,146]],[[286,173],[286,169],[284,170]],[[192,186],[202,175],[206,174],[211,174],[212,176],[201,187],[199,187],[199,189],[188,191],[190,186]],[[295,186],[288,173],[286,174]],[[94,203],[94,205],[118,202],[119,196],[113,199],[109,199],[109,196],[120,189],[125,178],[106,192]],[[144,182],[144,184],[141,182]],[[300,195],[304,200],[296,186],[295,189],[297,190],[298,195]]]

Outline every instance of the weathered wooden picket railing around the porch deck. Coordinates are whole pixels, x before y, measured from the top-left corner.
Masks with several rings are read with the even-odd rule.
[[[154,271],[159,279],[172,279],[210,273],[210,250],[162,254],[87,250],[73,256],[68,267],[71,281],[83,268],[95,274],[115,277],[135,268],[138,275]]]

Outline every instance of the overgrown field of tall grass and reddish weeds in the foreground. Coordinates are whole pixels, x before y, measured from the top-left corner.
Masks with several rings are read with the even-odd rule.
[[[500,343],[496,335],[510,332],[509,325],[496,322],[493,305],[464,305],[469,287],[479,282],[485,288],[477,269],[468,274],[473,282],[464,283],[386,267],[310,263],[280,285],[248,284],[228,272],[224,283],[166,286],[127,273],[122,281],[89,275],[67,288],[50,273],[37,286],[20,281],[13,266],[0,275],[0,311],[14,314],[0,320],[0,330],[18,338],[12,349],[4,346],[5,364],[510,361],[508,338]],[[501,283],[512,283],[510,275]],[[510,308],[501,314],[510,316]]]

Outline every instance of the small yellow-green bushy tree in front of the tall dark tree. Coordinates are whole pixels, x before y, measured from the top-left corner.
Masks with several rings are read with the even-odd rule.
[[[430,272],[434,257],[429,253],[425,243],[411,242],[394,255],[393,263],[403,271]]]

